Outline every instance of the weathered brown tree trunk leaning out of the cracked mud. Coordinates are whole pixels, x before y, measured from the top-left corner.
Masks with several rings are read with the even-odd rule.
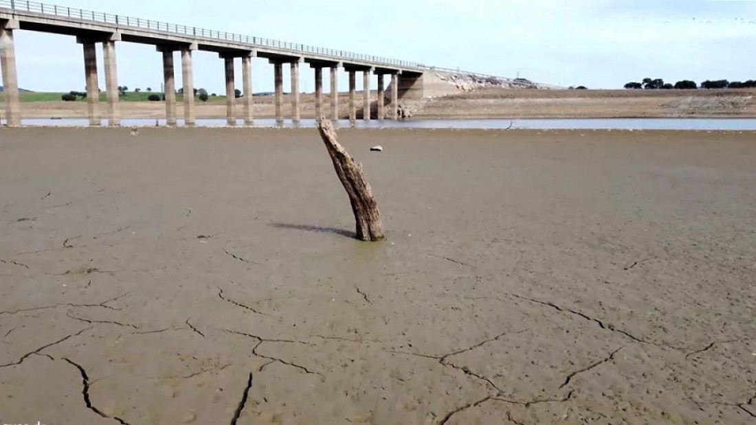
[[[330,120],[319,120],[318,131],[333,161],[336,175],[339,176],[346,194],[349,195],[349,202],[352,202],[352,211],[355,213],[357,222],[357,238],[371,242],[386,239],[386,236],[383,236],[383,224],[380,220],[378,204],[373,198],[370,184],[365,180],[362,165],[355,162],[355,159],[349,156],[349,153],[336,140],[336,131],[333,130]]]

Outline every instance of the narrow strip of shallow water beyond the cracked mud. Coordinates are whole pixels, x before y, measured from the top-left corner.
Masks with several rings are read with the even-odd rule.
[[[23,125],[76,127],[87,126],[87,119],[24,119]],[[103,121],[102,125],[107,125]],[[152,127],[164,126],[166,120],[154,119],[124,119],[123,127]],[[179,126],[183,121],[179,120]],[[243,127],[242,120],[237,121],[238,127]],[[339,120],[339,127],[349,127],[348,120]],[[612,130],[748,130],[756,131],[756,119],[438,119],[438,120],[407,120],[407,121],[378,121],[364,122],[358,120],[358,128],[472,128],[472,129],[500,129],[500,128],[532,128],[532,129],[612,129]],[[198,119],[197,127],[228,127],[225,119]],[[252,127],[257,128],[314,128],[314,119],[303,119],[294,123],[291,120],[276,122],[274,119],[257,119]]]

